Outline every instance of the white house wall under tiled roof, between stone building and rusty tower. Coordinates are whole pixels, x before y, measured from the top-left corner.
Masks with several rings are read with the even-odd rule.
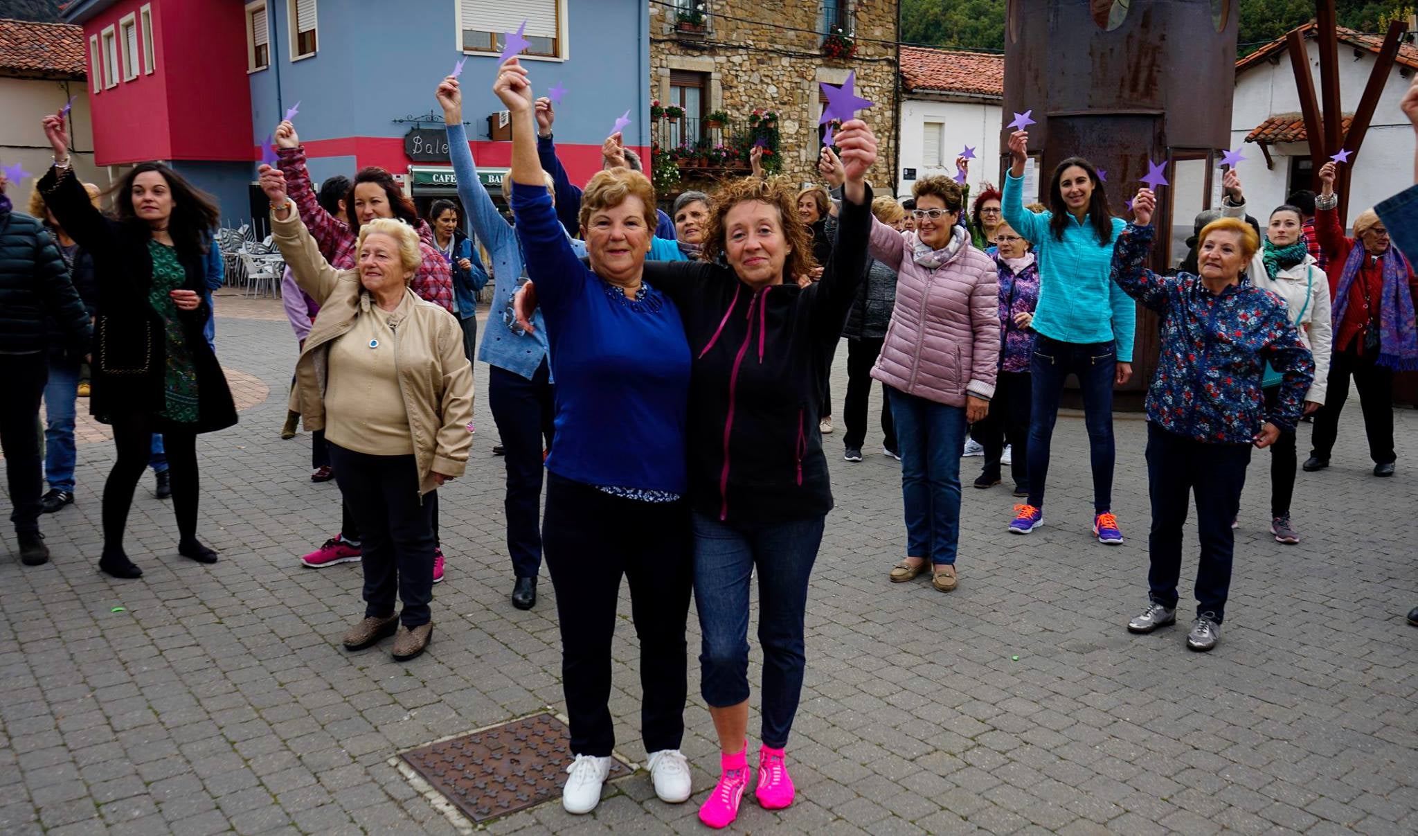
[[[926,122],[940,122],[942,155],[940,166],[926,167],[923,138]],[[956,155],[967,145],[976,149],[970,160],[970,193],[980,192],[981,182],[1000,185],[1000,126],[1003,125],[998,101],[927,101],[906,98],[900,105],[900,167],[916,169],[916,179],[930,175],[956,173]],[[896,172],[896,196],[910,197],[915,180]]]

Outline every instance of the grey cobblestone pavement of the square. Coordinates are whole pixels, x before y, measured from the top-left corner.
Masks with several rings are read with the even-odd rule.
[[[308,481],[309,436],[278,439],[295,342],[261,305],[271,308],[218,304],[225,366],[271,393],[199,446],[201,531],[221,562],[176,555],[172,512],[147,477],[128,539],[146,575],[96,572],[113,454],[101,439],[79,447],[78,504],[44,519],[50,565],[21,568],[4,528],[0,833],[448,833],[459,825],[410,785],[397,752],[564,708],[550,582],[535,610],[508,603],[503,474],[481,395],[468,475],[442,491],[448,581],[430,653],[396,664],[384,650],[337,647],[362,613],[360,572],[295,559],[335,534],[337,500],[332,484]],[[485,392],[486,366],[476,376]],[[1350,406],[1334,466],[1300,474],[1299,546],[1263,531],[1269,477],[1266,456],[1255,457],[1211,654],[1185,650],[1185,626],[1123,627],[1146,590],[1140,420],[1116,424],[1122,548],[1089,534],[1081,420],[1059,422],[1049,527],[1028,538],[1005,534],[1011,498],[970,488],[978,460],[966,460],[950,595],[925,578],[886,581],[903,548],[898,466],[875,431],[866,461],[837,460],[839,426],[827,439],[838,507],[813,578],[788,752],[798,799],[776,813],[749,799],[736,829],[1418,833],[1418,630],[1402,617],[1418,605],[1418,413],[1397,417],[1402,458],[1381,481]],[[1191,558],[1184,589],[1194,568]],[[611,708],[618,751],[638,762],[628,612],[623,593]],[[608,786],[591,816],[553,803],[491,829],[699,830],[718,752],[696,667],[683,744],[693,802],[661,803],[641,772]]]

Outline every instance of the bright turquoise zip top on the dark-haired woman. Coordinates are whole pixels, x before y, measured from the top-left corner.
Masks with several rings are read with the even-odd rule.
[[[1133,331],[1137,305],[1109,280],[1113,241],[1126,223],[1113,219],[1113,240],[1098,243],[1088,216],[1079,223],[1069,216],[1064,240],[1049,231],[1051,211],[1035,214],[1024,209],[1024,177],[1004,179],[1004,220],[1034,244],[1039,263],[1039,307],[1034,311],[1035,332],[1061,342],[1117,342],[1117,361],[1133,362]]]

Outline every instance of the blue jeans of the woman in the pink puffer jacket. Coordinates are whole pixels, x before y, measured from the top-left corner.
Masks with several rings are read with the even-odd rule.
[[[906,507],[906,556],[953,566],[960,542],[960,449],[966,410],[886,387]]]

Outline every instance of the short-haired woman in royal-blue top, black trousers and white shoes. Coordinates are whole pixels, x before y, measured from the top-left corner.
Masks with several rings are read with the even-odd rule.
[[[655,190],[603,170],[581,196],[584,267],[556,217],[537,160],[532,85],[516,58],[493,92],[512,114],[512,209],[536,281],[556,376],[556,441],[546,461],[546,562],[562,630],[562,687],[576,761],[562,793],[586,813],[615,745],[611,636],[621,576],[640,637],[641,734],[657,795],[689,798],[679,752],[686,694],[691,552],[685,461],[689,345],[675,304],[641,281]]]

